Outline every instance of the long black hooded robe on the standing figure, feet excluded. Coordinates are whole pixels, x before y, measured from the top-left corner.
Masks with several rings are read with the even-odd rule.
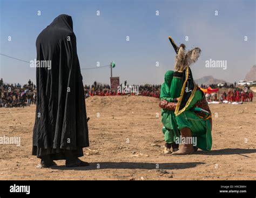
[[[71,16],[59,15],[36,40],[37,60],[51,67],[36,69],[37,101],[32,154],[65,159],[65,150],[83,156],[89,146],[82,75]],[[49,66],[49,65],[47,65]],[[51,68],[51,69],[50,69]]]

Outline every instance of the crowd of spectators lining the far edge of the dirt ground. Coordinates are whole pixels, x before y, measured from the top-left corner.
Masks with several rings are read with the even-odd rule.
[[[243,89],[235,87],[236,84],[224,84],[218,86],[217,84],[210,85],[211,88],[233,88],[227,93],[224,92],[217,98],[217,94],[206,95],[209,100],[213,101],[252,101],[253,93],[250,87],[245,86]],[[201,85],[201,88],[208,86]],[[92,85],[85,85],[84,91],[86,98],[94,95],[108,96],[108,95],[143,95],[147,97],[160,97],[161,85],[128,85],[127,81],[121,84],[117,90],[111,90],[110,85],[100,84],[96,81]],[[4,83],[3,79],[0,80],[0,107],[24,107],[36,104],[36,85],[28,81],[28,84],[8,84]],[[215,99],[214,99],[215,98]]]

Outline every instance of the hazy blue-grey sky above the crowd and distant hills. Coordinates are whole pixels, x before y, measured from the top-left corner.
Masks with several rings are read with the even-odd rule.
[[[119,76],[120,83],[163,83],[165,71],[173,70],[176,55],[169,35],[187,49],[198,46],[202,50],[192,66],[194,79],[212,75],[233,83],[244,79],[256,63],[255,0],[0,2],[0,53],[23,60],[36,57],[38,34],[65,13],[73,19],[80,67],[96,67],[97,62],[104,66],[114,60],[113,76]],[[205,62],[210,59],[226,60],[227,69],[206,68]],[[2,55],[0,63],[0,78],[5,82],[36,81],[36,71],[29,63]],[[82,75],[84,84],[110,81],[108,67],[82,70]]]

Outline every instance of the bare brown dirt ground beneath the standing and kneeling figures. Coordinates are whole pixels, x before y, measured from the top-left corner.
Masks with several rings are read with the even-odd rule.
[[[157,98],[86,99],[89,167],[37,168],[31,155],[35,105],[0,109],[0,136],[20,136],[21,146],[0,145],[1,180],[255,180],[256,103],[211,104],[212,151],[174,156],[161,153],[164,136]],[[159,114],[159,117],[157,116]]]

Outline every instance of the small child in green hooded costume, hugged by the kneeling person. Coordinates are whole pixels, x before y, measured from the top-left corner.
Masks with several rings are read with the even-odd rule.
[[[177,102],[176,98],[173,98],[171,93],[171,84],[173,79],[173,71],[167,71],[164,77],[164,83],[161,85],[160,99],[161,101]],[[174,111],[168,110],[167,108],[161,109],[161,121],[163,123],[163,133],[165,140],[164,154],[172,153],[172,151],[178,151],[179,145],[175,143],[176,138],[180,136]],[[172,148],[172,151],[171,151]]]

